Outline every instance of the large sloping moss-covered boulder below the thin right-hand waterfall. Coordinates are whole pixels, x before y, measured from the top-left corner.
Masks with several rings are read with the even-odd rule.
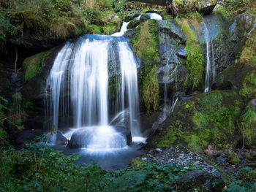
[[[154,137],[151,147],[186,145],[200,150],[208,145],[236,145],[239,136],[236,120],[243,104],[235,91],[201,93],[177,104]],[[162,131],[160,131],[162,130]]]

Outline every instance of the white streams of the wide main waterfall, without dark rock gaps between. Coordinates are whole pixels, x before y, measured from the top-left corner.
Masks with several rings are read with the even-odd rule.
[[[121,103],[117,105],[121,110],[128,107],[132,137],[140,137],[137,61],[124,39],[89,35],[74,43],[67,42],[57,55],[47,80],[50,97],[46,110],[48,118],[52,119],[50,126],[58,129],[59,113],[68,113],[74,117],[74,128],[66,136],[70,138],[80,128],[86,129],[88,134],[94,133],[87,145],[91,150],[119,149],[126,141],[124,135],[108,126],[108,52],[113,48],[112,41],[117,41],[121,61],[121,93],[118,93]]]

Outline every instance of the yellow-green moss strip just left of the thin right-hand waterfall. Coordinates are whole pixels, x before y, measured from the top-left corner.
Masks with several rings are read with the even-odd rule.
[[[178,23],[178,26],[181,27],[187,37],[186,50],[188,56],[186,67],[189,70],[189,74],[184,82],[184,87],[188,88],[191,82],[192,89],[194,89],[200,82],[203,82],[203,49],[195,31],[190,28],[187,20],[176,20],[176,23]]]

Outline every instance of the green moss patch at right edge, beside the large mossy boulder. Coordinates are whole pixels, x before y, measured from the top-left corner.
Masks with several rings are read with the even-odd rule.
[[[246,147],[256,147],[256,107],[249,104],[240,120],[241,133]]]

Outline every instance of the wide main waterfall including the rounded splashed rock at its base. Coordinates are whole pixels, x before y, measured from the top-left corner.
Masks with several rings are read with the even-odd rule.
[[[47,80],[48,126],[71,127],[65,134],[70,139],[69,147],[111,150],[138,140],[141,133],[137,65],[124,37],[86,34],[67,42],[56,56]],[[116,81],[116,85],[111,85],[116,89],[115,101],[109,98],[109,67],[120,72],[111,77]],[[126,114],[128,123],[124,123]],[[110,126],[110,117],[119,118],[118,125]]]

